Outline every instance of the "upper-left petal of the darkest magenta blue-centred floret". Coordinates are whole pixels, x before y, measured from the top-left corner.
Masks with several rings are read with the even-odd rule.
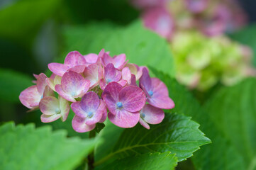
[[[111,82],[106,86],[101,95],[106,103],[108,111],[111,111],[113,114],[116,113],[116,102],[119,99],[119,91],[121,91],[122,88],[123,86],[121,86],[121,84]]]

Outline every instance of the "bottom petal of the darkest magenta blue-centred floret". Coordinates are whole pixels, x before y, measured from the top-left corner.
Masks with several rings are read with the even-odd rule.
[[[108,119],[121,128],[133,128],[140,120],[140,113],[130,113],[125,109],[116,109],[116,115],[109,112]]]

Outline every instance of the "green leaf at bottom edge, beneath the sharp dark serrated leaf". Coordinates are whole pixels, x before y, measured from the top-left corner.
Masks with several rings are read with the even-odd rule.
[[[137,157],[126,157],[108,164],[104,170],[172,170],[177,166],[175,154],[169,152],[141,154]]]

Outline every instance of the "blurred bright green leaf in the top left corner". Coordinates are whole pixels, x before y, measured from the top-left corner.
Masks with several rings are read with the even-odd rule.
[[[0,36],[24,44],[56,10],[60,0],[23,0],[0,10]]]

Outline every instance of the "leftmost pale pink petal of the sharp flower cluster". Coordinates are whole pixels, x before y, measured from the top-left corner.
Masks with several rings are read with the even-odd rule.
[[[37,86],[34,85],[23,90],[18,98],[24,106],[33,108],[39,105],[42,96],[42,94],[38,93]]]

